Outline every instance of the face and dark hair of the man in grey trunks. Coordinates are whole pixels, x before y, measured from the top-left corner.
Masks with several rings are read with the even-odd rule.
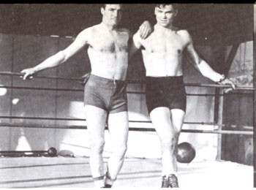
[[[122,11],[121,4],[106,4],[105,8],[101,8],[103,19],[110,26],[116,26],[120,23]]]

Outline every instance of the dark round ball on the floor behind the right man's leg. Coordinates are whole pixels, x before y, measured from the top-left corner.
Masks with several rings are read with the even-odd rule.
[[[189,142],[178,144],[177,161],[180,163],[190,163],[195,159],[195,148]]]

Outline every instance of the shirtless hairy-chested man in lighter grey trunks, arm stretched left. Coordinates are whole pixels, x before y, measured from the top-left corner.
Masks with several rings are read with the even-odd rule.
[[[124,80],[127,77],[130,34],[126,28],[118,27],[122,15],[120,4],[104,4],[100,11],[102,23],[81,31],[65,50],[21,72],[25,73],[23,79],[26,80],[43,69],[59,66],[89,45],[91,75],[85,86],[84,104],[91,142],[91,174],[97,188],[110,188],[121,170],[127,151],[129,128]],[[140,26],[141,37],[146,37],[149,31],[147,25]],[[107,118],[113,153],[108,159],[105,175],[102,152]]]

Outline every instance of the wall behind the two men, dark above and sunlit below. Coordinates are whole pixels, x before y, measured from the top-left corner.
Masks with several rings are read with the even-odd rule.
[[[48,56],[64,49],[72,42],[83,28],[99,23],[99,5],[95,4],[60,4],[56,5],[1,5],[0,6],[0,70],[20,72],[30,66],[39,64]],[[152,5],[128,4],[122,23],[135,31],[143,20],[155,23]],[[148,13],[151,12],[150,14]],[[56,14],[53,14],[55,12]],[[130,15],[129,12],[134,14]],[[183,4],[179,9],[179,27],[187,28],[203,56],[218,72],[223,71],[223,63],[234,44],[240,44],[236,58],[228,76],[233,80],[251,81],[250,65],[252,55],[253,11],[249,5],[234,4]],[[136,19],[135,19],[136,18]],[[85,21],[86,20],[86,21]],[[134,22],[133,20],[136,20]],[[51,34],[61,37],[50,37]],[[244,52],[246,48],[246,53]],[[188,83],[212,83],[202,77],[189,61],[184,61],[184,81]],[[249,66],[249,67],[248,67]],[[247,72],[246,68],[249,68]],[[246,70],[246,76],[243,73]],[[58,68],[48,69],[40,75],[80,77],[90,71],[86,50],[81,51],[67,63]],[[140,53],[129,63],[128,79],[143,80],[145,69]],[[239,83],[240,84],[240,83]],[[241,83],[244,85],[244,83]],[[0,85],[26,86],[41,88],[74,88],[82,89],[79,83],[67,80],[48,80],[34,78],[23,81],[19,77],[0,75]],[[251,83],[248,83],[251,85]],[[128,91],[145,91],[142,84],[129,84]],[[188,94],[214,94],[213,88],[187,87]],[[129,120],[149,121],[143,94],[128,94]],[[229,99],[227,99],[229,100]],[[240,101],[240,99],[238,100]],[[249,100],[246,100],[249,102]],[[233,102],[237,107],[237,101]],[[227,106],[229,108],[229,106]],[[239,109],[246,110],[247,104],[241,102]],[[0,88],[0,115],[49,118],[85,118],[83,113],[83,92],[69,91],[34,91],[25,89]],[[233,113],[227,118],[232,120]],[[249,119],[252,119],[249,116]],[[0,118],[1,123],[31,123],[49,125],[86,125],[86,121],[54,121]],[[214,96],[187,96],[188,122],[214,122]],[[233,120],[234,121],[234,120]],[[236,122],[235,122],[236,123]],[[150,127],[151,123],[130,123],[130,127]],[[214,129],[214,126],[196,126],[185,124],[183,129]],[[111,143],[108,132],[105,133],[106,145],[104,156],[109,156]],[[180,142],[191,142],[196,150],[195,161],[216,159],[217,134],[182,133]],[[250,142],[250,141],[249,141]],[[226,140],[227,153],[233,151]],[[239,142],[236,142],[239,145]],[[6,150],[47,150],[55,147],[58,151],[70,150],[77,156],[89,156],[89,137],[81,129],[27,129],[0,128],[0,149]],[[249,151],[248,151],[249,152]],[[242,151],[240,151],[242,153]],[[140,158],[159,158],[159,140],[155,132],[129,132],[127,156]],[[226,157],[230,159],[230,157]]]

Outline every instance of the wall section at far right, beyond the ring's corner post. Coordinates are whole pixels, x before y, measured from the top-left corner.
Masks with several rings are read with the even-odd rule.
[[[253,86],[253,42],[241,43],[230,66],[229,76],[238,85]],[[230,47],[227,47],[227,53]],[[227,94],[223,106],[225,130],[253,130],[253,93]],[[236,126],[235,126],[236,125]],[[233,151],[228,151],[233,150]],[[222,159],[253,164],[253,138],[248,135],[222,136]]]

